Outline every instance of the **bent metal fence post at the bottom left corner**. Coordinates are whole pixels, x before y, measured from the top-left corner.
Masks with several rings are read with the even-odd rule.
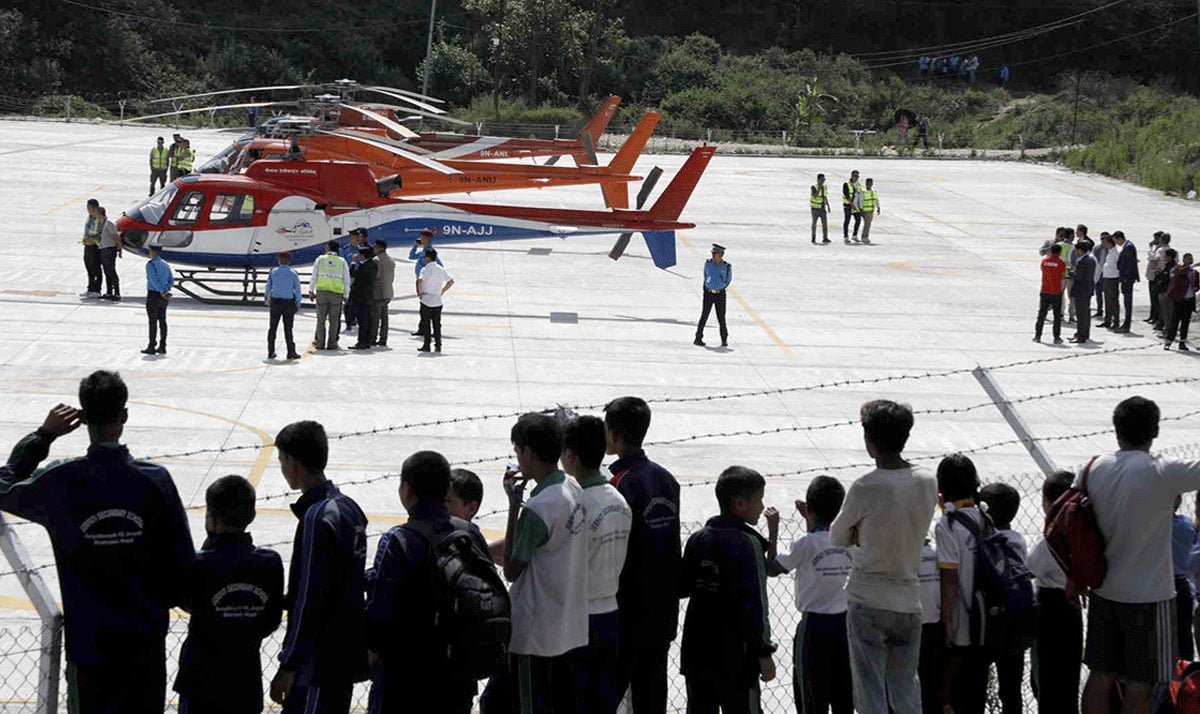
[[[46,586],[17,533],[0,514],[0,552],[17,571],[17,580],[42,620],[42,642],[37,658],[37,714],[59,710],[59,672],[62,662],[62,611]]]

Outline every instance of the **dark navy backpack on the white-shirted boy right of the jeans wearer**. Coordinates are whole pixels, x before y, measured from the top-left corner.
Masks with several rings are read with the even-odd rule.
[[[1003,654],[1019,654],[1037,637],[1038,601],[1033,576],[1021,552],[984,516],[983,528],[962,512],[950,522],[976,540],[974,592],[968,600],[971,643]]]

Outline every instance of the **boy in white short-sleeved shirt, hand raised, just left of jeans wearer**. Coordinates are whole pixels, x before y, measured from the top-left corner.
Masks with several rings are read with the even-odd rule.
[[[829,523],[838,516],[846,490],[836,479],[817,476],[805,500],[796,502],[808,534],[802,535],[772,568],[796,571],[796,608],[802,613],[792,643],[792,692],[804,714],[853,714],[850,646],[846,638],[848,548],[829,542]]]

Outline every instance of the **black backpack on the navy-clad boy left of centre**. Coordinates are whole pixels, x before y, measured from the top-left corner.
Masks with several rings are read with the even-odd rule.
[[[512,602],[491,556],[470,533],[470,526],[451,518],[454,528],[434,533],[430,523],[410,521],[404,527],[428,544],[433,584],[433,628],[445,643],[451,667],[473,679],[506,671],[512,637]]]

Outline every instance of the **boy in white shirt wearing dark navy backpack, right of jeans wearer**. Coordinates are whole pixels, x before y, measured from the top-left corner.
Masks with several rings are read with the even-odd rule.
[[[974,463],[961,454],[943,458],[937,464],[937,490],[946,512],[934,529],[937,570],[942,578],[942,632],[947,647],[942,706],[950,707],[955,714],[983,714],[988,695],[988,660],[971,618],[979,546],[971,530],[958,522],[966,517],[979,529],[983,528],[983,514],[976,505],[979,475]]]

